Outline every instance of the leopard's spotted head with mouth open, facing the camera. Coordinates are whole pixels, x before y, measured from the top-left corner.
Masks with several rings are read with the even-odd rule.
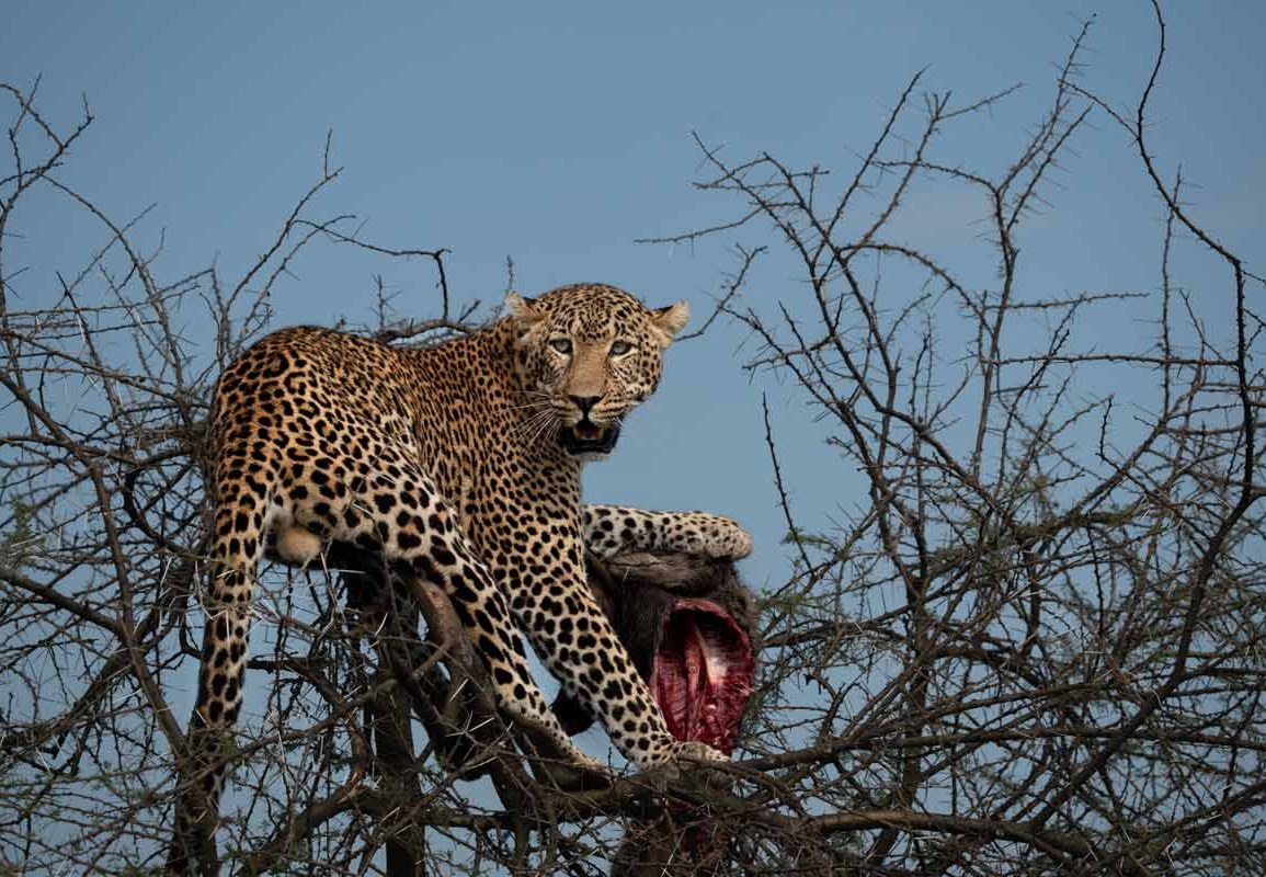
[[[506,296],[515,368],[527,396],[527,434],[553,432],[590,459],[611,452],[620,421],[660,383],[663,351],[690,318],[679,301],[649,309],[600,283],[563,286],[538,299]]]

